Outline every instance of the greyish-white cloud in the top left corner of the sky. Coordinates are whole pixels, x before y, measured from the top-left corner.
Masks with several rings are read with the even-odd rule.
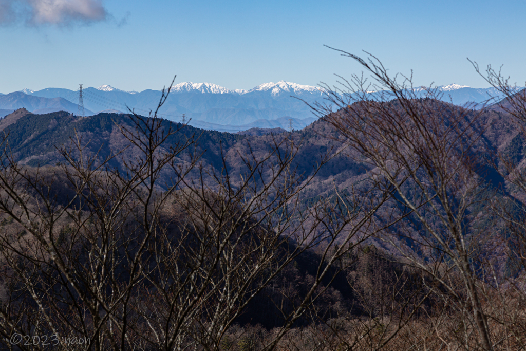
[[[0,0],[0,24],[89,24],[111,18],[100,0]]]

